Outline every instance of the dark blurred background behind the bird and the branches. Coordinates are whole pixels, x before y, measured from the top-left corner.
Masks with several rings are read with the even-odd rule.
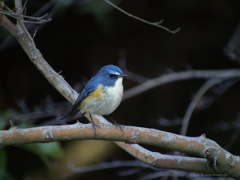
[[[4,2],[14,9],[13,1]],[[26,2],[27,15],[48,13],[46,18],[52,18],[48,23],[30,23],[27,27],[47,62],[78,92],[106,64],[119,65],[131,74],[124,81],[125,90],[171,72],[240,67],[239,0],[111,2],[140,18],[150,22],[164,19],[162,25],[181,30],[171,34],[142,23],[104,0]],[[8,129],[10,120],[18,127],[59,124],[55,118],[64,114],[70,104],[1,26],[0,67],[1,129]],[[119,124],[179,133],[186,109],[204,82],[190,79],[156,87],[125,99],[111,117]],[[238,79],[211,88],[195,109],[187,135],[205,133],[229,152],[239,155],[239,92]],[[80,121],[87,123],[84,118]],[[126,152],[106,141],[4,147],[0,149],[0,179],[156,179],[150,177],[154,173],[159,173],[159,179],[166,172],[172,178],[194,178],[189,173],[156,170],[132,160]],[[93,165],[105,167],[101,166],[104,162],[110,164],[94,169]],[[119,168],[113,168],[114,162],[119,163]],[[78,167],[89,168],[78,172]]]

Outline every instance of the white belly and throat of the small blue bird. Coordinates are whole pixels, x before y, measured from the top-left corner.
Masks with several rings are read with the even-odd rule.
[[[123,86],[122,78],[119,78],[114,87],[104,87],[104,95],[101,99],[91,98],[84,107],[83,112],[97,115],[111,114],[122,101]]]

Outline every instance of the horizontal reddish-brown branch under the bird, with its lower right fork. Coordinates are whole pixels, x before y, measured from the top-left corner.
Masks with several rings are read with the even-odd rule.
[[[227,174],[231,177],[240,178],[240,175],[236,173],[240,169],[239,157],[230,154],[217,143],[204,136],[186,137],[160,130],[131,126],[123,126],[121,130],[113,125],[100,125],[100,127],[96,128],[95,133],[91,124],[76,123],[74,125],[44,126],[28,129],[11,128],[10,130],[0,131],[0,137],[1,146],[15,145],[16,143],[44,143],[83,139],[124,141],[134,144],[129,145],[121,142],[122,148],[131,150],[132,155],[158,168],[220,175]],[[148,151],[135,143],[207,157],[216,164],[216,169],[212,169],[205,158],[163,155]]]

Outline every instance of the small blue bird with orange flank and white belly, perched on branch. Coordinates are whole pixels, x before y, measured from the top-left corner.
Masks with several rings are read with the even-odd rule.
[[[118,66],[103,66],[88,81],[70,111],[61,119],[71,120],[80,111],[82,115],[88,113],[91,123],[96,125],[92,120],[92,114],[109,115],[121,103],[123,96],[122,82],[126,76]]]

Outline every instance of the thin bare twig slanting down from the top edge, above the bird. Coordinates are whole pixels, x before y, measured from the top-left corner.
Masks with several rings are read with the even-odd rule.
[[[108,1],[108,0],[104,0],[104,1],[105,1],[106,3],[108,3],[109,5],[111,5],[112,7],[114,7],[115,9],[117,9],[118,11],[122,12],[123,14],[125,14],[125,15],[133,18],[133,19],[136,19],[136,20],[138,20],[138,21],[141,21],[141,22],[143,22],[143,23],[146,23],[146,24],[149,24],[149,25],[151,25],[151,26],[156,26],[156,27],[158,27],[158,28],[164,29],[164,30],[166,30],[167,32],[170,32],[170,33],[172,33],[172,34],[176,34],[177,32],[180,31],[180,28],[179,28],[179,27],[178,27],[177,29],[175,29],[175,30],[170,30],[169,28],[160,25],[160,24],[163,22],[163,19],[160,20],[160,21],[158,21],[158,22],[149,22],[149,21],[147,21],[147,20],[145,20],[145,19],[142,19],[142,18],[140,18],[140,17],[137,17],[137,16],[135,16],[135,15],[133,15],[133,14],[130,14],[129,12],[121,9],[120,7],[116,6],[115,4],[113,4],[112,2],[110,2],[110,1]]]

